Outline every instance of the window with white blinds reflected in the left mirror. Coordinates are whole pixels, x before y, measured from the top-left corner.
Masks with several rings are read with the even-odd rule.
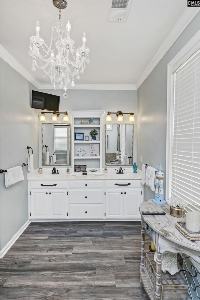
[[[54,127],[54,152],[67,152],[67,128]]]

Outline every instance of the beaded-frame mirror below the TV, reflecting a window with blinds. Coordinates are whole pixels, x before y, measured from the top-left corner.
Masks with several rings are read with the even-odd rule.
[[[70,166],[70,124],[42,123],[42,166]]]

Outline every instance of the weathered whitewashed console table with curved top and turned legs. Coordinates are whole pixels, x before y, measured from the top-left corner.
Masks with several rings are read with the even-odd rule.
[[[161,299],[161,264],[162,264],[162,254],[166,251],[173,253],[184,253],[188,257],[194,259],[194,261],[200,263],[200,241],[190,241],[184,237],[178,229],[175,228],[175,222],[182,221],[182,218],[176,218],[170,215],[169,205],[166,203],[164,205],[155,204],[153,199],[144,201],[140,205],[141,223],[142,223],[142,234],[141,234],[141,263],[140,263],[140,277],[141,282],[149,296],[152,300]],[[142,211],[164,211],[166,215],[142,215]],[[145,266],[144,266],[144,245],[145,245],[145,231],[148,233],[152,239],[156,251],[156,290],[154,289],[152,283],[145,276]],[[198,273],[198,274],[197,274]],[[194,273],[195,274],[195,273]],[[198,277],[200,273],[197,271],[194,277]],[[198,279],[197,279],[198,282]],[[199,286],[199,284],[198,284]],[[198,287],[199,289],[199,287]],[[196,288],[193,288],[195,292],[195,297],[192,299],[200,299],[198,297],[198,292]]]

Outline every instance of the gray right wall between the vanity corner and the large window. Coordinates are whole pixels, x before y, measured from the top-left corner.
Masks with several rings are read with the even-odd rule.
[[[200,29],[200,12],[138,88],[138,168],[142,164],[166,169],[167,65]],[[142,163],[140,162],[142,155]],[[144,200],[154,197],[145,186]]]

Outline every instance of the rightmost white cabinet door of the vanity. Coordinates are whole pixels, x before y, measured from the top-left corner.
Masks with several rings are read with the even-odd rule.
[[[124,189],[123,217],[124,218],[141,218],[139,207],[141,203],[141,189],[132,188]]]

